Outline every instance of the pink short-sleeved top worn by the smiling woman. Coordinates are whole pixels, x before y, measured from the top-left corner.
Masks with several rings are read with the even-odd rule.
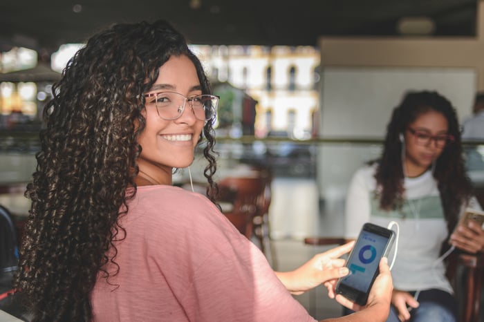
[[[120,270],[98,278],[94,321],[315,321],[201,194],[139,187],[121,225]]]

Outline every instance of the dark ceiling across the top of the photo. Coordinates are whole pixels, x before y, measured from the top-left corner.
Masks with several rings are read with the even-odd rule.
[[[434,35],[474,36],[476,0],[1,0],[0,50],[49,53],[118,22],[167,19],[192,44],[310,45],[319,36],[393,36],[402,17]]]

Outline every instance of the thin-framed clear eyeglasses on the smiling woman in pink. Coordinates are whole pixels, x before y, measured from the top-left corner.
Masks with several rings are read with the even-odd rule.
[[[187,102],[198,120],[211,120],[216,114],[220,100],[216,95],[186,97],[176,92],[151,93],[145,94],[145,97],[155,97],[156,111],[163,120],[176,120],[185,111]]]

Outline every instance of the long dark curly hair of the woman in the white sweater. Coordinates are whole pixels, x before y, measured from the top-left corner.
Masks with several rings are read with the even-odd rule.
[[[400,105],[393,109],[382,157],[375,172],[378,197],[382,209],[401,207],[404,193],[401,151],[404,149],[404,142],[400,140],[400,135],[405,133],[409,124],[419,115],[428,111],[436,111],[445,116],[449,124],[449,134],[455,139],[445,145],[436,160],[434,171],[450,233],[457,223],[460,207],[472,196],[472,184],[465,173],[456,110],[449,100],[437,92],[409,92]]]

